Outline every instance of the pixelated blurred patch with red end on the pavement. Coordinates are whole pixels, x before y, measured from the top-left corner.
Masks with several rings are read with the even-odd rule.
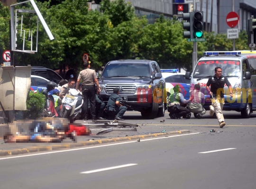
[[[88,127],[78,123],[69,123],[62,118],[40,118],[20,120],[9,124],[4,135],[5,143],[55,143],[70,138],[76,142],[76,136],[90,136]]]

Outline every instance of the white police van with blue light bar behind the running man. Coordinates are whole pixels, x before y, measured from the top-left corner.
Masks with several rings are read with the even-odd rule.
[[[230,98],[228,87],[224,87],[223,110],[241,112],[243,118],[249,118],[253,110],[256,110],[256,52],[204,52],[192,74],[186,72],[186,79],[191,78],[190,91],[195,84],[200,83],[201,92],[205,94],[206,110],[209,110],[211,104],[206,83],[215,75],[216,67],[222,68],[222,75],[228,77],[233,90],[233,98]]]

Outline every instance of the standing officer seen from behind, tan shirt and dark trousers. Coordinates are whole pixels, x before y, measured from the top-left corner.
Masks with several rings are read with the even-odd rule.
[[[91,103],[90,112],[91,112],[92,120],[97,120],[96,114],[95,114],[96,100],[95,100],[94,84],[96,84],[96,86],[98,87],[98,91],[101,91],[101,88],[100,88],[100,85],[97,79],[98,77],[95,73],[95,70],[90,69],[91,68],[90,63],[85,60],[85,62],[83,63],[83,66],[84,66],[84,69],[79,73],[75,89],[78,90],[78,86],[82,78],[82,94],[84,96],[83,106],[84,106],[84,112],[85,112],[84,120],[89,120],[88,99],[90,99],[90,103]]]

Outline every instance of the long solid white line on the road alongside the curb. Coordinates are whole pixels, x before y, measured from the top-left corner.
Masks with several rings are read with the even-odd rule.
[[[164,139],[164,138],[170,138],[170,137],[182,137],[182,136],[194,135],[194,134],[199,134],[199,133],[190,133],[190,134],[174,135],[174,136],[168,136],[168,137],[150,138],[150,139],[140,140],[140,142],[146,141],[146,140]],[[39,153],[39,154],[18,155],[18,156],[13,156],[13,157],[3,157],[3,158],[0,158],[0,160],[13,159],[13,158],[18,158],[18,157],[35,156],[35,155],[55,154],[55,153],[61,153],[61,152],[70,152],[70,151],[84,150],[84,149],[91,149],[91,148],[98,148],[98,147],[105,147],[105,146],[122,145],[122,144],[128,144],[128,143],[133,143],[133,142],[137,142],[137,141],[135,140],[135,141],[129,141],[129,142],[114,143],[114,144],[109,144],[109,145],[75,148],[75,149],[60,150],[60,151],[53,151],[53,152],[45,152],[45,153]]]

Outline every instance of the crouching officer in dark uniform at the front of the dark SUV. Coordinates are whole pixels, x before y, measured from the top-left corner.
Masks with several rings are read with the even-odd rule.
[[[127,110],[127,107],[120,104],[120,101],[119,88],[116,87],[113,89],[106,108],[108,115],[115,116],[115,120],[124,120],[122,117]]]

